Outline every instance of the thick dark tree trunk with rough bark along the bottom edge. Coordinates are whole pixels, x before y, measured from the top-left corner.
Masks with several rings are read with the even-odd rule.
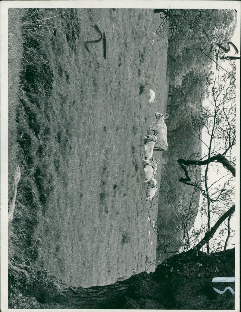
[[[155,272],[90,288],[71,287],[12,258],[8,274],[9,309],[234,309],[234,295],[216,293],[211,283],[213,277],[234,276],[234,249],[183,252]],[[220,284],[220,290],[227,286]],[[234,283],[228,286],[234,289]]]

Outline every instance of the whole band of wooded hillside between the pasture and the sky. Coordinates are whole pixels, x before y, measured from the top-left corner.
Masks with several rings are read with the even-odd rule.
[[[193,186],[179,182],[183,171],[178,158],[194,158],[201,154],[201,141],[192,134],[191,122],[187,117],[187,107],[192,107],[197,116],[202,114],[201,103],[205,98],[206,76],[214,64],[212,51],[216,43],[226,45],[233,36],[236,25],[234,10],[169,10],[168,66],[169,94],[167,113],[168,150],[163,152],[163,170],[159,190],[158,217],[162,221],[162,211],[173,216],[172,224],[159,223],[160,234],[165,232],[165,242],[172,237],[168,251],[181,246],[182,232],[173,237],[173,227],[178,222],[171,204],[175,197],[185,195],[185,204],[191,199]],[[200,175],[201,172],[193,172]],[[196,196],[199,201],[200,194]],[[178,199],[176,200],[178,202]],[[196,203],[193,212],[197,213]],[[196,214],[195,213],[195,214]],[[194,217],[195,217],[194,214]],[[193,219],[194,221],[194,219]],[[190,223],[192,224],[192,222]],[[160,248],[160,244],[159,244]],[[160,248],[160,260],[164,254]],[[169,256],[172,254],[169,254]]]

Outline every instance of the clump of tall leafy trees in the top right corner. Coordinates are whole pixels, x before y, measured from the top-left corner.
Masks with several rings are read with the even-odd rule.
[[[236,27],[235,10],[170,10],[168,72],[171,85],[182,85],[192,70],[202,73],[213,63],[216,44],[226,46]]]

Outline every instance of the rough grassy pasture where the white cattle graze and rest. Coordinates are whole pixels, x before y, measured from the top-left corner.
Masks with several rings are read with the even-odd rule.
[[[149,9],[34,11],[9,12],[23,17],[11,27],[24,27],[20,75],[9,76],[21,81],[9,102],[9,167],[21,168],[9,252],[83,287],[154,271],[141,161],[154,111],[166,108],[167,35],[152,45],[159,18]],[[84,48],[98,39],[94,24],[106,59],[102,42],[88,45],[94,58]]]

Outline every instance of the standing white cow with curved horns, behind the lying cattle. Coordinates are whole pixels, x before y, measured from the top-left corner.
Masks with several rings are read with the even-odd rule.
[[[164,117],[167,115],[166,117]],[[168,114],[160,114],[158,112],[155,112],[156,121],[152,123],[151,126],[149,126],[149,131],[153,131],[155,136],[158,134],[158,141],[160,142],[158,145],[158,149],[166,151],[168,148],[167,143],[167,126],[164,122],[164,119],[168,118]]]

